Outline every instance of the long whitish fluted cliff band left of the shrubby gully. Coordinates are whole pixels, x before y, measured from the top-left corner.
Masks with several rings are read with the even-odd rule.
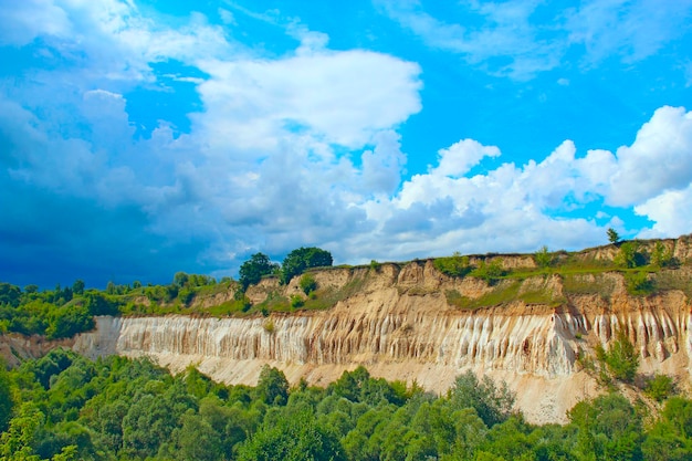
[[[300,365],[411,360],[548,377],[569,375],[574,369],[574,337],[563,333],[565,324],[573,322],[569,317],[512,317],[492,312],[459,316],[329,314],[248,319],[98,317],[96,332],[80,335],[74,348],[92,357],[192,355]]]

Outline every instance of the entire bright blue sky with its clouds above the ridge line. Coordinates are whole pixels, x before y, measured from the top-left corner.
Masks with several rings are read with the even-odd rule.
[[[686,234],[691,54],[692,0],[0,0],[0,280]]]

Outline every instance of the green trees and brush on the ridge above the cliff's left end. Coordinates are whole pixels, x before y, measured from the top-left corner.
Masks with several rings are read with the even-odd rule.
[[[275,276],[286,284],[306,270],[331,266],[332,261],[328,251],[298,248],[290,252],[282,264],[272,263],[262,253],[253,254],[240,268],[239,281],[231,277],[217,281],[209,275],[177,272],[171,283],[165,285],[108,282],[105,290],[86,289],[82,280],[76,280],[72,286],[56,285],[53,290],[40,290],[38,285],[22,289],[0,282],[0,334],[67,338],[94,328],[94,315],[266,315],[270,311],[292,310],[303,304],[295,300],[274,300],[252,306],[244,292],[262,277]],[[311,280],[306,274],[302,281],[306,293],[316,289]],[[234,298],[211,307],[195,305],[197,298],[228,293],[234,293]],[[325,304],[319,306],[325,307]]]

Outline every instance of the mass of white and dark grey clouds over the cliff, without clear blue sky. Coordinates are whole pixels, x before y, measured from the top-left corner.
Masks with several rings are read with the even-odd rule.
[[[0,280],[161,282],[179,270],[234,274],[251,253],[301,245],[363,263],[576,249],[602,243],[608,226],[642,237],[692,229],[683,107],[660,107],[616,151],[565,140],[516,165],[460,139],[409,175],[400,128],[422,109],[417,63],[332,50],[305,30],[285,55],[256,54],[201,14],[166,27],[116,0],[3,8],[17,27],[1,43],[31,48],[53,70],[0,84]],[[27,19],[39,10],[50,14]],[[161,62],[200,76],[170,83]],[[128,92],[176,84],[200,101],[189,130],[164,117],[138,136]],[[594,205],[608,217],[590,216]],[[625,209],[652,224],[622,228]]]

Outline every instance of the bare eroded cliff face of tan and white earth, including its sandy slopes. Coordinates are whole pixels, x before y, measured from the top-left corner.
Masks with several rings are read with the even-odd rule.
[[[314,276],[321,291],[347,295],[328,311],[268,317],[99,317],[97,329],[80,335],[74,348],[91,357],[145,355],[174,370],[193,364],[214,379],[248,385],[256,383],[264,364],[283,369],[292,383],[305,378],[317,385],[364,365],[375,376],[444,392],[471,369],[506,380],[533,422],[563,422],[566,410],[598,392],[578,358],[594,355],[594,347],[618,331],[641,354],[640,373],[667,373],[689,383],[692,317],[680,290],[635,297],[621,275],[606,273],[573,281],[604,284],[606,296],[579,294],[565,290],[559,275],[536,276],[521,282],[513,301],[464,311],[449,302],[449,293],[479,300],[518,282],[451,279],[431,261]],[[276,291],[300,293],[295,280],[286,287],[270,280],[249,294],[260,302]],[[521,301],[522,293],[536,292],[554,301]]]

